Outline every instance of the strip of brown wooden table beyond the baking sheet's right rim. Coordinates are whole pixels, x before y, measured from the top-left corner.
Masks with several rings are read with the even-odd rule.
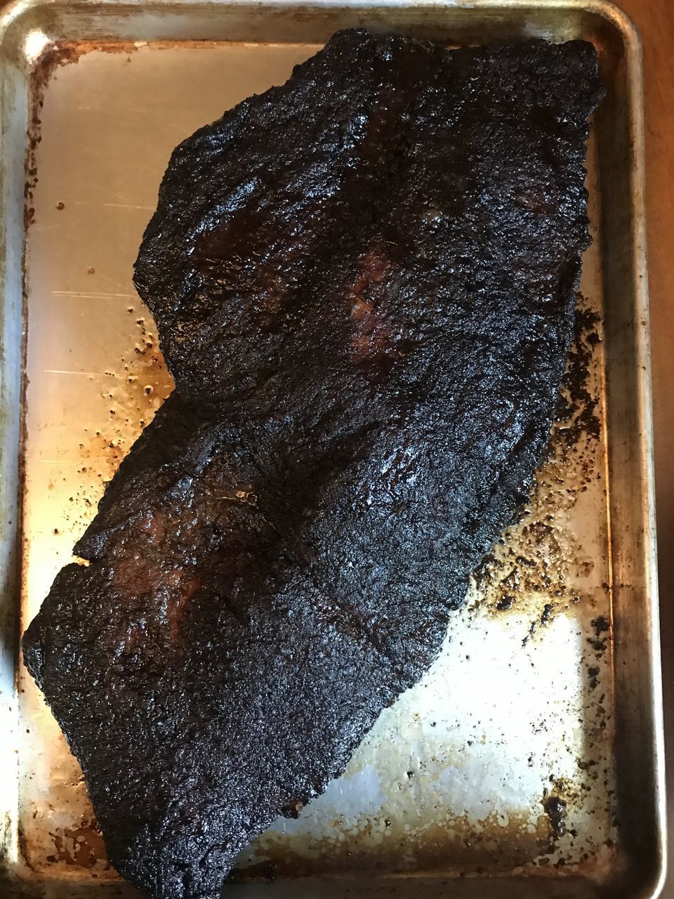
[[[674,899],[674,0],[617,0],[643,44],[662,673],[669,736],[670,877]]]

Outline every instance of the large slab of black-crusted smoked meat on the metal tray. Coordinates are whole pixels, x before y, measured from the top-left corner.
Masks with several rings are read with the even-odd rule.
[[[23,640],[150,895],[340,774],[528,494],[600,95],[582,42],[341,31],[174,151],[136,283],[176,390]]]

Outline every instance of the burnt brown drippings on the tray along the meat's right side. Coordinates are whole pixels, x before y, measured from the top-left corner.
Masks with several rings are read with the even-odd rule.
[[[545,637],[544,628],[559,615],[567,615],[578,628],[580,720],[587,754],[577,761],[571,780],[555,779],[552,786],[545,784],[545,809],[549,807],[554,812],[552,830],[558,821],[555,815],[562,809],[560,803],[564,804],[565,832],[554,842],[542,843],[540,850],[544,853],[541,861],[554,867],[575,867],[579,859],[582,864],[584,859],[600,853],[602,846],[610,848],[610,822],[614,816],[613,775],[605,761],[612,717],[606,657],[610,619],[608,612],[597,614],[599,609],[609,608],[610,585],[600,581],[595,569],[604,561],[597,553],[606,550],[602,546],[589,550],[577,538],[572,523],[578,520],[579,503],[589,502],[591,508],[592,503],[602,502],[602,330],[599,315],[590,310],[589,301],[581,296],[574,331],[575,343],[567,361],[563,401],[558,409],[561,420],[554,425],[547,458],[537,473],[537,487],[530,503],[520,512],[519,522],[485,558],[476,577],[474,600],[475,618],[507,614],[528,619],[522,641],[524,652],[528,652],[532,640]],[[578,344],[581,352],[576,352]],[[598,417],[598,426],[586,429],[582,423],[590,415]],[[576,426],[579,422],[581,426]],[[548,645],[548,650],[553,652],[554,645]],[[541,726],[545,730],[545,724]],[[589,808],[601,816],[602,824],[599,836],[584,843],[583,859],[575,834],[585,831]],[[601,840],[601,845],[597,840]]]

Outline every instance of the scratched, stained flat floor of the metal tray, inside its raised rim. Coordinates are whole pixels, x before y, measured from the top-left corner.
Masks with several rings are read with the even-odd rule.
[[[45,57],[44,35],[29,39],[24,50],[40,64],[25,265],[21,627],[172,388],[131,283],[171,150],[320,46],[75,42]],[[476,574],[430,672],[380,717],[323,797],[242,853],[236,889],[253,895],[258,886],[246,882],[270,875],[370,885],[414,876],[462,890],[470,881],[466,890],[483,895],[485,877],[507,877],[518,893],[580,896],[625,867],[598,154],[593,140],[594,242],[566,411],[528,510]],[[133,895],[105,858],[81,772],[22,666],[18,699],[16,870],[44,895]]]

